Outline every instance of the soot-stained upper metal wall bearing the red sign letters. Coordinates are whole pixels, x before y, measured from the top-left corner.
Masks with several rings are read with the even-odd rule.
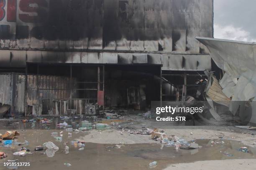
[[[0,0],[0,49],[204,52],[213,0]]]

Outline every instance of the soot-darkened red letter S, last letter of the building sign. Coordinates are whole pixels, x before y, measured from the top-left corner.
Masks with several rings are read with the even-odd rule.
[[[37,4],[38,7],[32,7],[31,4]],[[46,20],[47,12],[42,7],[47,7],[46,0],[20,0],[20,10],[25,13],[37,13],[36,16],[28,14],[19,14],[20,20],[25,23],[42,23]]]

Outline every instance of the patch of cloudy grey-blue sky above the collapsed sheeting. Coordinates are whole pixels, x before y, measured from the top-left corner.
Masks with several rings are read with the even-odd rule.
[[[256,42],[256,0],[214,0],[214,37]]]

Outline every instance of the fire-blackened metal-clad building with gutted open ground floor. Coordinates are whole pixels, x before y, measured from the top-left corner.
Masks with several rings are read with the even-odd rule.
[[[94,115],[197,97],[213,0],[8,0],[0,102],[11,115]]]

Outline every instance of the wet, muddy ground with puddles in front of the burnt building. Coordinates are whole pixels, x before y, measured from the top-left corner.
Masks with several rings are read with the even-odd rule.
[[[256,168],[256,131],[244,130],[233,126],[174,126],[168,122],[159,123],[154,120],[144,119],[137,115],[129,115],[121,119],[98,120],[103,123],[111,124],[118,121],[118,125],[110,125],[108,130],[87,130],[79,132],[67,132],[63,128],[57,128],[59,122],[68,122],[73,128],[81,126],[80,118],[72,120],[55,119],[51,124],[42,125],[36,122],[23,123],[20,120],[0,120],[0,133],[6,130],[18,130],[20,136],[15,140],[29,143],[25,147],[30,149],[33,154],[24,157],[13,155],[21,146],[10,145],[9,147],[0,146],[0,151],[5,152],[8,158],[0,160],[0,170],[8,169],[4,163],[8,160],[18,159],[19,162],[29,162],[29,167],[19,167],[26,170],[115,170],[115,169],[151,169],[149,163],[157,161],[155,170],[173,169],[255,169]],[[93,122],[93,120],[92,120]],[[130,131],[138,131],[144,128],[158,128],[166,135],[176,135],[187,141],[198,143],[202,148],[193,150],[174,150],[174,147],[167,147],[158,141],[151,140],[150,135],[131,134]],[[46,130],[47,129],[47,130]],[[128,132],[128,130],[130,130]],[[51,135],[52,132],[63,131],[62,140],[56,140]],[[72,133],[72,136],[68,136]],[[58,135],[59,136],[59,135]],[[84,140],[84,150],[72,145],[71,141]],[[59,147],[54,155],[46,150],[34,151],[33,148],[51,141]],[[215,145],[211,142],[215,141]],[[69,146],[69,153],[61,152],[64,150],[64,143]],[[115,144],[122,143],[121,148],[115,148]],[[248,147],[249,153],[243,153],[238,149]],[[52,157],[49,157],[52,156]],[[221,161],[220,161],[221,160]],[[70,167],[64,163],[71,164]],[[215,167],[215,168],[214,168]]]

